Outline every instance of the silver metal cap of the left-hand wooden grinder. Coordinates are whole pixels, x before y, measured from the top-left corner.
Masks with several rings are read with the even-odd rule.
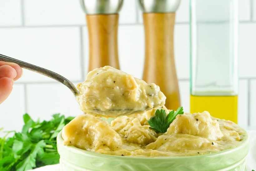
[[[80,0],[86,14],[116,14],[120,11],[123,0]]]

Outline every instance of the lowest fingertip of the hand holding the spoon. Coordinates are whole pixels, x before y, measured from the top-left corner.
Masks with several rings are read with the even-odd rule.
[[[0,104],[7,99],[12,92],[13,80],[8,77],[0,78]]]

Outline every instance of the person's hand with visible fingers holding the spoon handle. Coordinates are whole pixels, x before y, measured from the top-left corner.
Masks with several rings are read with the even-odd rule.
[[[0,104],[12,92],[13,81],[22,76],[22,68],[11,62],[0,61]]]

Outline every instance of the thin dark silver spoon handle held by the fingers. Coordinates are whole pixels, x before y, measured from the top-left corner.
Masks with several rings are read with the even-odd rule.
[[[13,63],[18,64],[22,68],[28,69],[28,70],[33,71],[33,72],[37,72],[37,73],[42,74],[44,76],[48,76],[48,77],[50,77],[50,78],[52,78],[56,81],[61,82],[64,85],[66,85],[72,91],[72,93],[75,96],[79,94],[79,91],[76,89],[75,85],[73,85],[65,77],[63,77],[63,76],[61,76],[61,75],[59,75],[55,72],[52,72],[50,70],[47,70],[47,69],[44,69],[44,68],[41,68],[41,67],[37,67],[37,66],[32,65],[32,64],[27,63],[27,62],[23,62],[23,61],[14,59],[14,58],[7,57],[7,56],[2,55],[2,54],[0,54],[0,61],[13,62]]]

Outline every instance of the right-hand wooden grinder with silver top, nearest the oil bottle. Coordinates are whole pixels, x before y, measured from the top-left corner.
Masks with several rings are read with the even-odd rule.
[[[145,28],[143,80],[155,83],[167,97],[165,106],[180,107],[179,84],[174,59],[175,11],[180,0],[139,0]]]

